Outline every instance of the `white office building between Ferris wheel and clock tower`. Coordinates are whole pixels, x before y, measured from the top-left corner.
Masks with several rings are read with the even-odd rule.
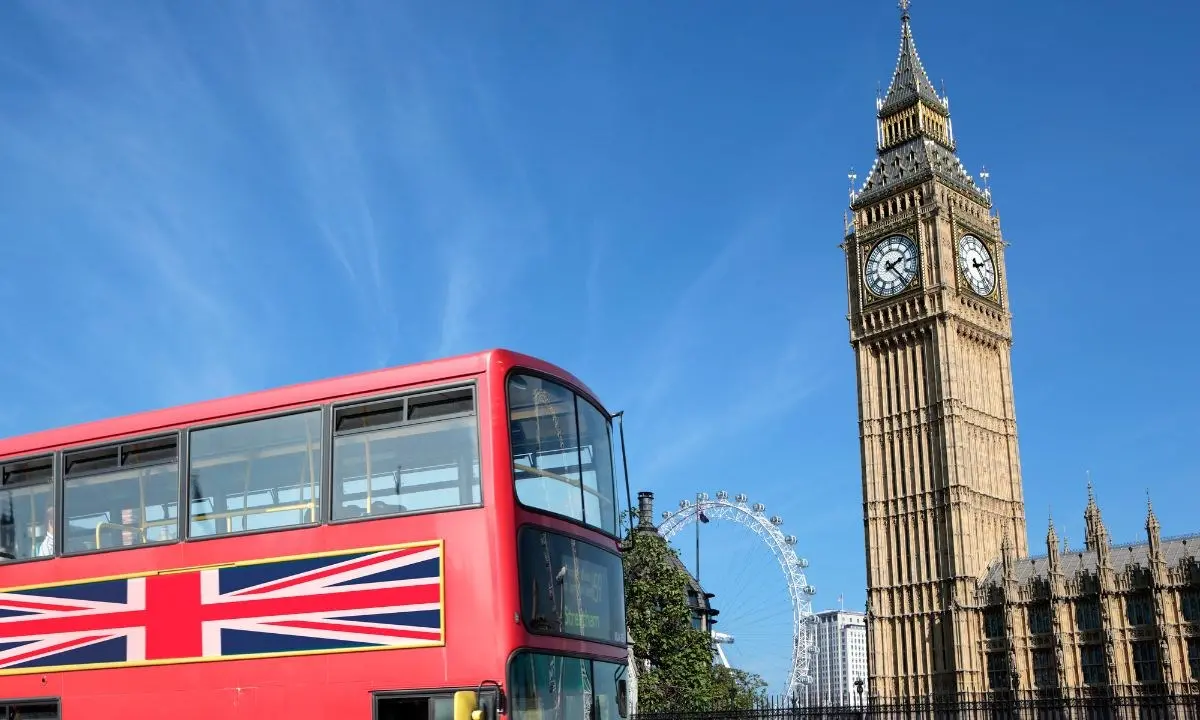
[[[817,658],[809,704],[858,704],[854,680],[866,688],[866,613],[827,610],[817,613]]]

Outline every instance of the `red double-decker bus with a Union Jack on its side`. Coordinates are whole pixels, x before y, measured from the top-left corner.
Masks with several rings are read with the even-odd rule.
[[[2,440],[0,716],[624,716],[614,448],[506,350]]]

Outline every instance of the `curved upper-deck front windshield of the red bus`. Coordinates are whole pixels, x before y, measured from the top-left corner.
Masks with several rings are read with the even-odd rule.
[[[508,390],[517,499],[616,535],[607,418],[578,394],[538,376],[514,374]]]

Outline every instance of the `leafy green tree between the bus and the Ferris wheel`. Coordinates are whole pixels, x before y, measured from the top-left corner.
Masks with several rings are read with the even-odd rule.
[[[625,619],[638,662],[638,712],[751,707],[766,683],[713,665],[708,632],[691,624],[689,576],[676,558],[658,533],[635,530],[625,539]]]

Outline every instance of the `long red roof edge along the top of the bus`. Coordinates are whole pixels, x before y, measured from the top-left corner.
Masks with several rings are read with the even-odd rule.
[[[338,397],[370,395],[391,388],[464,378],[480,374],[488,366],[496,366],[502,372],[512,366],[521,366],[553,374],[574,384],[577,390],[590,396],[596,404],[604,408],[604,404],[600,403],[595,394],[565,370],[532,355],[503,348],[493,348],[464,355],[455,355],[452,358],[439,358],[424,362],[310,380],[2,438],[0,439],[0,460],[37,452],[52,452],[60,448],[74,445],[103,443],[121,437],[170,431],[188,425],[218,422],[223,419],[269,413],[274,409],[282,410],[289,407],[329,402]],[[605,413],[607,414],[607,410]]]

